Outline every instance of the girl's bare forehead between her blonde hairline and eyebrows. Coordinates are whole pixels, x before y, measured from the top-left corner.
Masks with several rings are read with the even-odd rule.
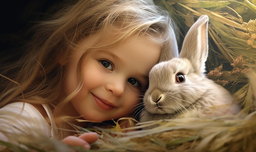
[[[145,36],[131,36],[123,40],[120,40],[120,38],[115,40],[109,37],[111,36],[105,37],[102,36],[101,33],[90,35],[81,42],[80,46],[83,48],[82,52],[85,53],[88,50],[90,50],[90,52],[105,52],[112,56],[116,55],[124,58],[129,57],[130,53],[134,54],[131,55],[131,57],[135,57],[135,55],[137,55],[140,58],[147,56],[148,53],[154,53],[154,61],[159,60],[162,51],[162,43],[155,42]],[[123,56],[123,54],[126,55]]]

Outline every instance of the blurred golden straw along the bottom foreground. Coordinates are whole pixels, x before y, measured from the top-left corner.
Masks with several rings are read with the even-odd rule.
[[[154,125],[161,126],[149,130],[122,132],[124,130],[96,128],[101,140],[92,144],[91,150],[81,147],[67,146],[61,141],[46,137],[27,135],[14,137],[22,146],[11,143],[0,144],[7,146],[5,151],[29,152],[31,148],[38,152],[254,152],[256,150],[256,112],[243,117],[243,111],[238,115],[200,118],[200,113],[191,112],[182,118],[148,121],[137,123],[135,127],[143,128]],[[117,122],[116,122],[117,123]],[[117,128],[119,124],[117,123]],[[31,130],[36,132],[36,130]],[[83,130],[90,132],[90,130]],[[121,135],[112,137],[109,134]]]

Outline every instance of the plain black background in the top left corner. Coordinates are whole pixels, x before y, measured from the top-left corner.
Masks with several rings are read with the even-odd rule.
[[[63,0],[8,0],[0,4],[0,63],[15,61],[20,46],[31,38],[29,29],[58,10]]]

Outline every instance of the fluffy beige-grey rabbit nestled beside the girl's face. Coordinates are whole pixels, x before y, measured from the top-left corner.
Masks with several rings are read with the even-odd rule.
[[[186,34],[180,55],[150,70],[140,122],[175,119],[193,110],[200,111],[201,117],[235,115],[240,111],[229,91],[204,74],[208,21],[207,15],[200,16]]]

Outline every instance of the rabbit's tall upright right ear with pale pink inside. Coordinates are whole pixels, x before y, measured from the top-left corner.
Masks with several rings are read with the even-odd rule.
[[[180,58],[189,59],[198,74],[204,73],[208,56],[208,21],[207,15],[202,15],[191,26],[180,52]]]

